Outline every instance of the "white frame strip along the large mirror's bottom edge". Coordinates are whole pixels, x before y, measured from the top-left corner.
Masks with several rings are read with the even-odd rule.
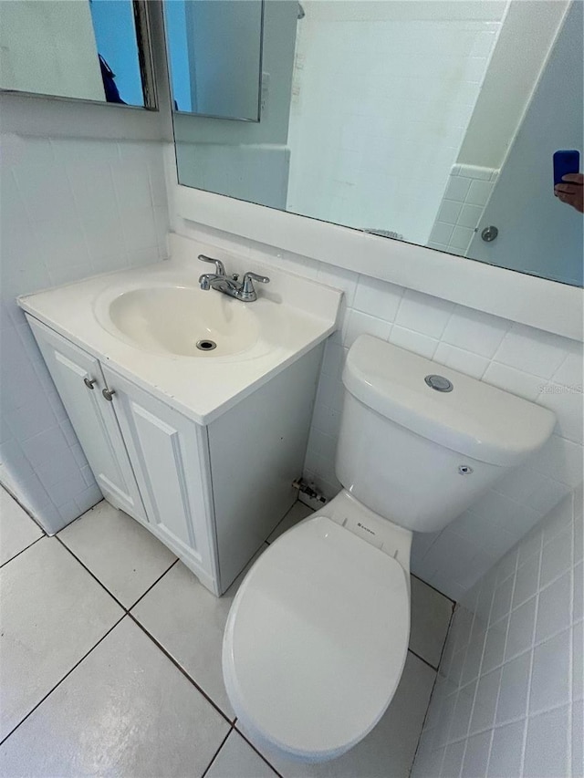
[[[188,222],[584,341],[578,286],[192,189],[178,183],[176,167],[170,186],[169,204]]]

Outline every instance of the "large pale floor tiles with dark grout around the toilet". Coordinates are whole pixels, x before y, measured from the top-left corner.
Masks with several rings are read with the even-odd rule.
[[[268,542],[308,513],[296,503]],[[0,533],[4,778],[407,778],[452,614],[418,579],[390,708],[339,759],[298,764],[257,752],[224,690],[224,623],[244,573],[214,597],[105,502],[49,538],[0,490]]]

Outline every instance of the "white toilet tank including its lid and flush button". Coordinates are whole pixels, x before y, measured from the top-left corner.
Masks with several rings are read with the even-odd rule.
[[[343,384],[337,477],[370,510],[417,532],[443,529],[556,422],[533,402],[369,335],[349,348]]]

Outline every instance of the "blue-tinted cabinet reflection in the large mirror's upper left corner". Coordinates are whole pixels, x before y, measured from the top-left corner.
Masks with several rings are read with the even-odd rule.
[[[174,109],[259,121],[262,0],[165,0]]]

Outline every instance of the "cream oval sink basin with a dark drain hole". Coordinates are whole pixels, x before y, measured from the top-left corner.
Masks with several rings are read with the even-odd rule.
[[[181,357],[228,357],[252,348],[257,317],[239,300],[189,286],[132,289],[110,302],[110,323],[139,348]]]

